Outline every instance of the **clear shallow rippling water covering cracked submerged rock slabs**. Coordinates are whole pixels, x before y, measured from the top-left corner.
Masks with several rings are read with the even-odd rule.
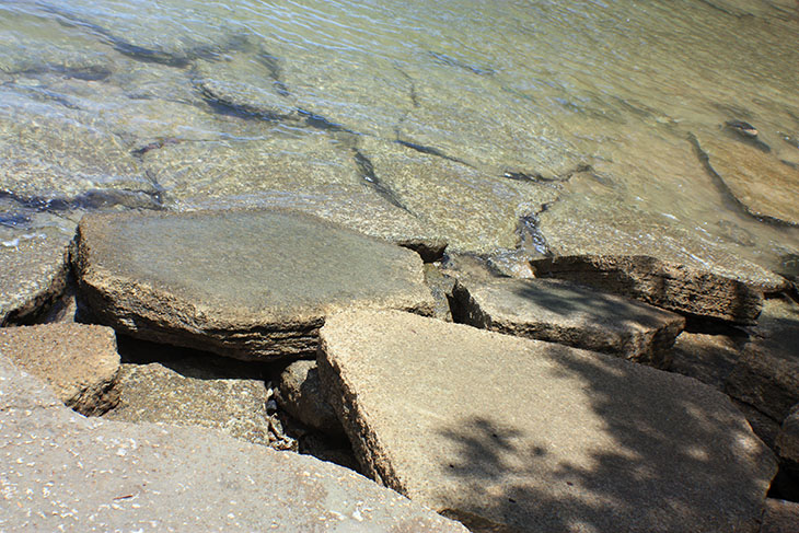
[[[4,1],[0,223],[366,197],[456,251],[779,270],[798,35],[795,0]]]

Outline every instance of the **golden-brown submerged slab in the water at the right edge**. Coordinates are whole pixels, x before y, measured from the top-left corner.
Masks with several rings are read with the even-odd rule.
[[[799,224],[799,170],[750,143],[698,137],[707,164],[725,187],[754,217]]]

